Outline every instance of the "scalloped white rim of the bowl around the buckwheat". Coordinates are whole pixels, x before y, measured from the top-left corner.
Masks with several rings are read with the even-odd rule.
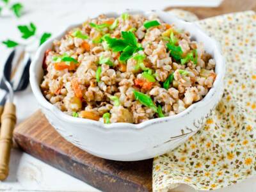
[[[44,49],[45,49],[45,47],[47,47],[47,45],[52,44],[52,41],[55,40],[55,39],[60,39],[61,36],[63,36],[68,29],[74,28],[76,26],[81,26],[81,22],[80,22],[78,24],[72,24],[72,25],[68,26],[67,28],[65,28],[65,30],[61,31],[61,33],[58,33],[57,35],[52,36],[51,38],[49,38],[49,40],[47,40],[43,45],[40,46],[38,51],[36,51],[35,58],[31,63],[31,67],[29,68],[29,74],[30,74],[29,81],[30,81],[33,93],[36,97],[36,100],[39,102],[40,106],[44,107],[45,109],[48,109],[49,111],[52,111],[52,113],[54,115],[56,115],[58,118],[60,118],[61,120],[63,120],[64,122],[67,122],[67,123],[84,124],[84,125],[90,124],[90,125],[93,125],[95,127],[98,127],[99,129],[103,128],[104,130],[129,129],[129,131],[142,129],[142,128],[148,127],[149,125],[152,125],[152,124],[159,124],[161,122],[169,122],[169,121],[175,120],[177,118],[180,118],[180,117],[186,115],[187,113],[191,113],[191,111],[193,111],[193,109],[195,109],[199,106],[207,106],[207,103],[211,101],[212,97],[214,97],[214,92],[216,91],[216,89],[219,86],[222,86],[221,81],[223,81],[223,77],[224,77],[224,74],[225,74],[225,60],[224,60],[223,56],[221,55],[221,49],[220,49],[220,46],[218,45],[218,43],[213,38],[206,35],[204,33],[204,31],[202,31],[202,29],[200,29],[199,26],[196,25],[195,23],[186,22],[184,20],[178,19],[177,17],[175,17],[175,15],[172,15],[172,13],[162,12],[162,11],[144,12],[144,11],[140,11],[140,10],[126,11],[125,13],[131,13],[131,14],[140,13],[142,15],[149,15],[150,13],[156,13],[156,15],[159,15],[160,19],[161,19],[161,16],[160,16],[161,14],[168,14],[168,15],[170,15],[170,17],[172,17],[172,20],[174,20],[175,22],[182,23],[184,26],[185,25],[187,25],[187,26],[190,25],[191,28],[196,28],[197,33],[199,33],[200,35],[205,36],[205,38],[208,38],[209,41],[211,41],[212,46],[214,47],[214,48],[212,48],[212,50],[216,50],[216,56],[215,57],[219,58],[220,62],[219,63],[216,62],[216,68],[218,67],[219,72],[216,76],[216,79],[214,81],[214,84],[213,84],[212,88],[209,90],[207,95],[205,95],[205,97],[202,100],[200,100],[200,101],[198,101],[194,104],[191,104],[191,106],[186,108],[184,111],[178,113],[177,115],[166,116],[166,117],[163,117],[163,118],[154,118],[154,119],[146,120],[145,122],[141,122],[140,124],[131,124],[131,123],[104,124],[102,122],[95,121],[95,120],[89,120],[89,119],[86,119],[86,118],[75,118],[73,116],[70,116],[70,115],[67,115],[67,114],[63,113],[63,111],[61,111],[56,106],[51,104],[47,99],[45,99],[44,95],[42,94],[42,92],[40,90],[40,86],[37,83],[38,79],[37,79],[37,74],[35,72],[36,71],[36,65],[39,65],[38,63],[42,63],[39,60],[42,60],[42,54],[44,54]],[[119,12],[108,12],[108,13],[104,13],[104,14],[109,16],[109,17],[111,17],[111,16],[116,17],[118,15],[121,15],[121,12],[120,13]],[[95,17],[97,17],[97,15],[95,15]],[[94,18],[94,17],[92,17],[92,18]],[[215,94],[216,94],[216,92],[215,92]]]

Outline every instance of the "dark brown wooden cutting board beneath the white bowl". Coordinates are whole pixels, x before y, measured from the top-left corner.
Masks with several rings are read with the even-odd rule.
[[[61,138],[37,111],[15,128],[17,145],[28,154],[103,191],[152,191],[152,159],[120,162],[92,156]]]

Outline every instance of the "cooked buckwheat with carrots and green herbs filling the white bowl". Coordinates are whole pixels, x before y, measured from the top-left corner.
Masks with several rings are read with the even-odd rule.
[[[45,52],[45,98],[104,124],[172,116],[202,100],[216,74],[203,42],[156,15],[99,15]]]

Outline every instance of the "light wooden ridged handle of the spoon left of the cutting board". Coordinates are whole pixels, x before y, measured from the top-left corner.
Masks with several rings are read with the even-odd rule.
[[[15,105],[8,102],[1,117],[0,132],[0,180],[6,179],[9,173],[9,161],[12,148],[12,135],[16,123]]]

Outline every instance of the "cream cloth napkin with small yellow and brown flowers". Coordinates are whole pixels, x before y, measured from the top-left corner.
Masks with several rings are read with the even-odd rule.
[[[227,65],[225,93],[198,133],[154,159],[154,191],[180,183],[218,189],[256,175],[255,12],[196,23],[221,44]]]

